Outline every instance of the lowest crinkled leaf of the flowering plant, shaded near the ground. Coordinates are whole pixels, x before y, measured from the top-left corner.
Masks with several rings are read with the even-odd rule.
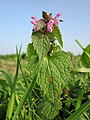
[[[43,100],[37,105],[36,112],[40,116],[41,120],[52,120],[59,113],[61,106],[62,104],[60,100],[55,103],[50,103],[47,100]]]

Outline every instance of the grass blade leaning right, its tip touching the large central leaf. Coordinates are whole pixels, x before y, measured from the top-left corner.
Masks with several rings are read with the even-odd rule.
[[[16,111],[15,111],[15,113],[14,113],[14,117],[13,117],[12,120],[16,120],[16,117],[17,117],[17,115],[19,114],[19,112],[21,111],[24,102],[26,101],[26,99],[28,98],[28,96],[31,94],[32,89],[33,89],[35,83],[36,83],[36,76],[34,77],[34,79],[32,80],[31,84],[30,84],[30,85],[28,86],[28,88],[26,89],[26,91],[25,91],[25,93],[24,93],[24,96],[21,98],[20,103],[19,103],[19,105],[17,106],[17,109],[16,109]]]

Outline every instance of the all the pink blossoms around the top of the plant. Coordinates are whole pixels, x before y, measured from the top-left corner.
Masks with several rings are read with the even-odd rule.
[[[50,20],[48,20],[48,22],[46,22],[48,32],[52,32],[54,29],[54,25],[59,24],[59,17],[60,16],[61,16],[61,13],[58,13],[54,18],[51,18]],[[38,19],[34,16],[32,16],[31,18],[34,19],[34,21],[31,21],[31,23],[34,25],[34,27],[33,27],[34,32],[36,32]]]

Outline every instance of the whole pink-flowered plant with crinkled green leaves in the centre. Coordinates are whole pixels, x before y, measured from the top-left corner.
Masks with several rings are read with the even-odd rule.
[[[42,120],[51,120],[61,109],[60,96],[70,80],[71,62],[69,54],[62,50],[62,35],[58,28],[61,13],[53,18],[51,13],[43,11],[42,16],[42,19],[31,17],[34,27],[27,57],[30,75],[37,76],[36,83],[42,90],[43,99],[37,105],[37,114]],[[59,45],[55,43],[56,40]]]

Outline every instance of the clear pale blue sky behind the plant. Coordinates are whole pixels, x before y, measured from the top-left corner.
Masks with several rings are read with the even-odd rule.
[[[16,46],[26,52],[31,42],[33,25],[31,16],[42,18],[42,11],[61,12],[64,22],[59,28],[64,50],[75,55],[82,54],[75,42],[86,47],[90,44],[90,0],[0,0],[0,54],[15,54]]]

